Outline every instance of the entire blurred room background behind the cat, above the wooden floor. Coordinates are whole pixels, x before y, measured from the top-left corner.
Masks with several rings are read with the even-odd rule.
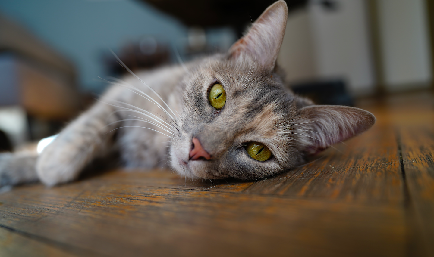
[[[434,0],[287,0],[279,55],[319,104],[432,90]],[[0,150],[52,135],[131,68],[226,51],[271,0],[0,0]]]

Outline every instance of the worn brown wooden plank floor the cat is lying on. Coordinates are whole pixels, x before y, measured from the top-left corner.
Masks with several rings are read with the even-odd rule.
[[[434,97],[366,99],[378,121],[257,182],[105,172],[0,194],[0,256],[434,256]]]

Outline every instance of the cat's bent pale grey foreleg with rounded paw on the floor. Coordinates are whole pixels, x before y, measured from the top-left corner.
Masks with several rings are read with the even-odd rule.
[[[112,147],[118,117],[113,107],[98,103],[83,113],[39,155],[36,172],[46,185],[76,179],[96,156]]]

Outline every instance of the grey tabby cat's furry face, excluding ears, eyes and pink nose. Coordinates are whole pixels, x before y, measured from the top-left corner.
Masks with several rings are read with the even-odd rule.
[[[295,97],[283,87],[279,75],[263,69],[250,55],[236,59],[216,55],[197,62],[181,83],[184,108],[172,140],[171,161],[182,175],[259,179],[299,163],[300,139],[287,133],[288,126],[299,122]],[[216,83],[226,94],[220,110],[209,101]],[[193,138],[209,159],[190,158],[197,147]],[[271,156],[253,159],[246,150],[249,143],[263,144]]]

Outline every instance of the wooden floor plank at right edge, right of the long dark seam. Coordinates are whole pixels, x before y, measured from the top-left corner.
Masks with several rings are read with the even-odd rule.
[[[434,115],[423,124],[402,127],[402,165],[408,186],[415,236],[424,246],[420,255],[434,256]]]

